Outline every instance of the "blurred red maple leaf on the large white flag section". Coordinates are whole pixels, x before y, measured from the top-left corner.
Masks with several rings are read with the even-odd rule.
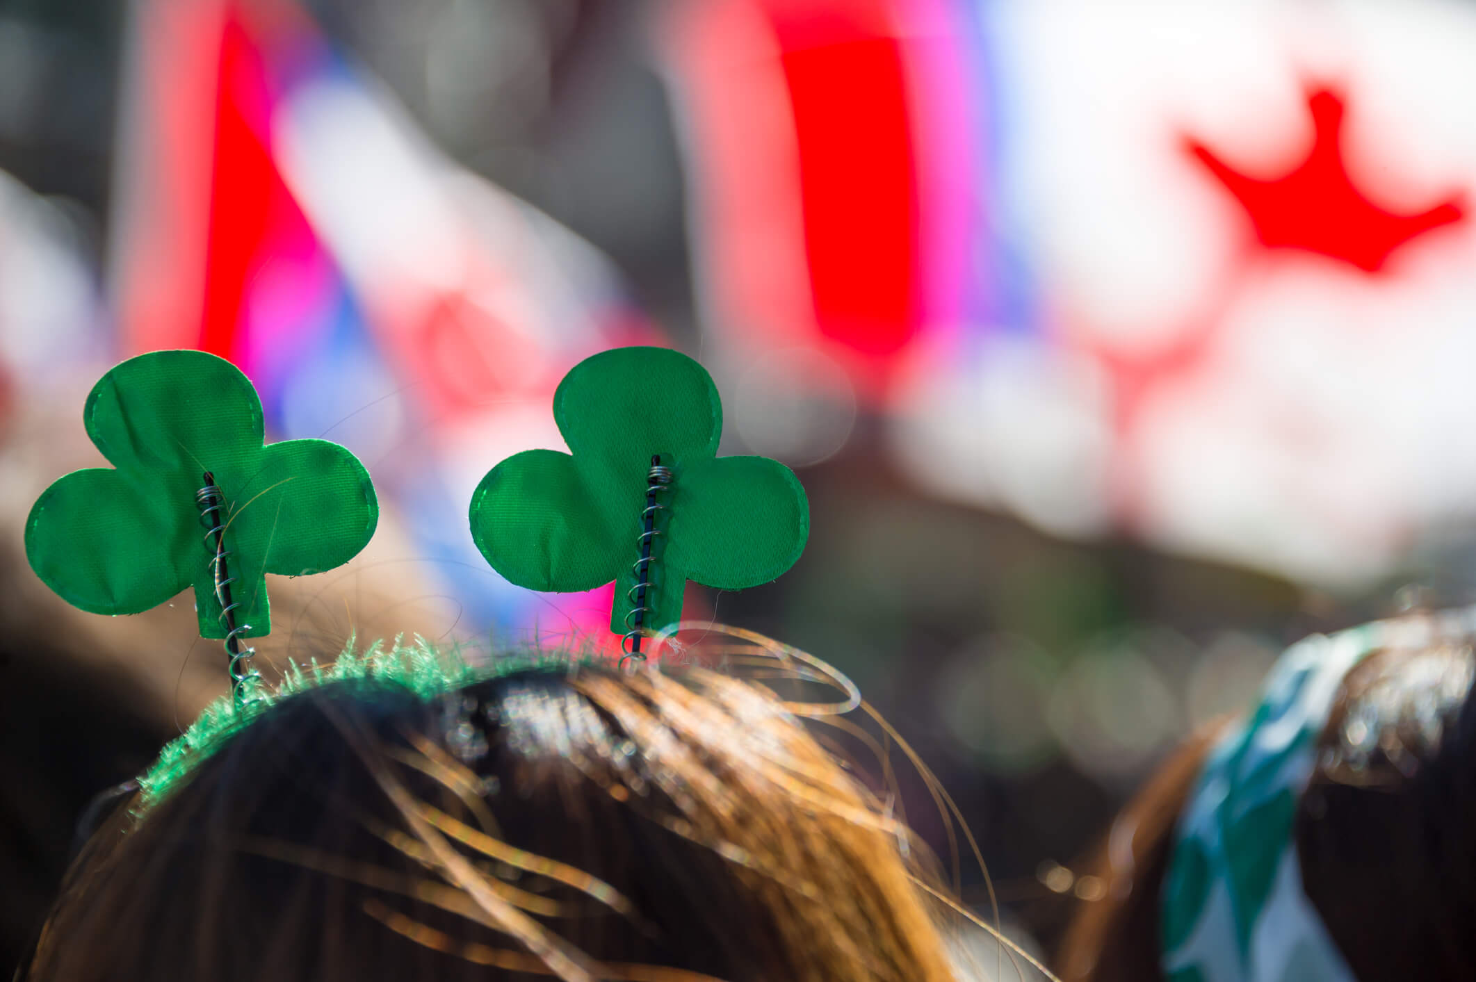
[[[1268,249],[1303,249],[1349,262],[1365,273],[1415,236],[1461,221],[1464,202],[1452,196],[1414,215],[1398,215],[1368,201],[1343,162],[1343,97],[1328,88],[1308,93],[1314,139],[1306,159],[1271,180],[1247,177],[1193,137],[1185,149],[1235,196]]]

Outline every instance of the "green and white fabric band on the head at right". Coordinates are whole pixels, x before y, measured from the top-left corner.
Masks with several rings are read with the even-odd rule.
[[[1163,883],[1170,982],[1352,982],[1302,889],[1293,824],[1343,675],[1389,643],[1367,624],[1290,647],[1261,703],[1210,753]]]

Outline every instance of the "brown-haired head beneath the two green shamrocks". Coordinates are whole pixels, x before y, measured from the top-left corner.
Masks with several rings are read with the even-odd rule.
[[[328,681],[193,758],[25,979],[952,978],[906,829],[722,674]]]

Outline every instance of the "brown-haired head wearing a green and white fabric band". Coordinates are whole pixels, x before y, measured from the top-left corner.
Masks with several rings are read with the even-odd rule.
[[[1063,947],[1063,978],[1165,978],[1168,933],[1199,923],[1175,923],[1175,891],[1221,889],[1210,883],[1213,868],[1194,868],[1197,846],[1185,849],[1185,839],[1199,835],[1196,815],[1213,811],[1224,868],[1238,879],[1230,889],[1259,901],[1238,914],[1247,930],[1256,930],[1250,922],[1261,910],[1268,929],[1286,932],[1286,951],[1293,935],[1297,942],[1325,935],[1333,961],[1342,961],[1339,978],[1469,979],[1476,966],[1469,923],[1476,905],[1473,613],[1365,625],[1292,649],[1249,724],[1222,722],[1196,737],[1119,815],[1095,870],[1106,896],[1080,908]],[[1331,661],[1331,677],[1317,680],[1327,693],[1315,699],[1322,712],[1303,742],[1268,708],[1287,705],[1293,671],[1315,680],[1317,658]],[[1258,727],[1261,736],[1246,736]],[[1283,740],[1280,759],[1263,753],[1272,740]],[[1247,752],[1253,743],[1261,746]],[[1303,780],[1287,783],[1292,793],[1283,795],[1272,779],[1278,768],[1300,770],[1294,758],[1305,761]],[[1237,768],[1249,779],[1238,786]],[[1247,808],[1256,795],[1261,801],[1249,804],[1259,811]],[[1237,823],[1237,812],[1246,821]],[[1241,835],[1258,827],[1275,832]],[[1277,866],[1277,855],[1294,864],[1299,883],[1286,879],[1292,870]],[[1274,867],[1277,882],[1256,873]],[[1294,888],[1311,914],[1302,926],[1287,913],[1296,904],[1278,894]],[[1222,978],[1261,978],[1228,970]]]

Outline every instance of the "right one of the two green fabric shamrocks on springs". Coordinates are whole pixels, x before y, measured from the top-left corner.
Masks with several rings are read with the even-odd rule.
[[[528,450],[493,467],[471,500],[471,534],[520,587],[573,593],[615,581],[610,627],[630,628],[651,457],[660,494],[645,616],[682,616],[685,582],[741,590],[794,565],[809,537],[804,488],[768,457],[716,457],[723,410],[711,377],[666,348],[615,348],[574,366],[554,394],[571,454]]]

